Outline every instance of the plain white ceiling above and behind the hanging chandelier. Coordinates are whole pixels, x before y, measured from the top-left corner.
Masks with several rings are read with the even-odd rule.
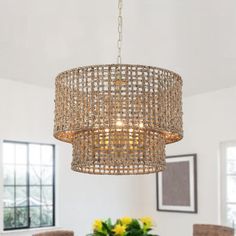
[[[236,86],[235,0],[123,0],[123,62],[174,70],[184,95]],[[0,0],[0,78],[53,87],[116,62],[117,0]]]

